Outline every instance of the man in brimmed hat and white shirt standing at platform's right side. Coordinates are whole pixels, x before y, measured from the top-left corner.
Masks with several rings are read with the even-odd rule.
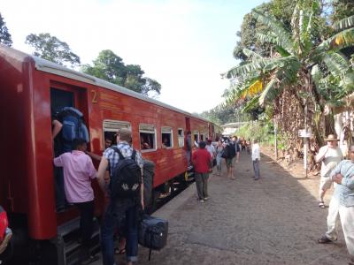
[[[319,180],[319,208],[326,207],[323,199],[327,189],[332,185],[329,174],[342,161],[342,151],[337,144],[339,139],[334,134],[329,134],[325,140],[327,145],[319,148],[319,154],[316,155],[316,163],[322,162]]]

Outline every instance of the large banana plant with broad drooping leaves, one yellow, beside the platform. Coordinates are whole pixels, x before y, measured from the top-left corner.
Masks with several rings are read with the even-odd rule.
[[[341,53],[341,49],[354,45],[354,16],[336,23],[333,34],[323,40],[319,1],[297,1],[290,31],[260,11],[251,14],[268,28],[268,32],[257,34],[258,41],[271,43],[275,52],[272,57],[262,57],[243,49],[249,58],[247,63],[225,73],[227,78],[237,80],[228,102],[248,98],[247,110],[255,104],[270,104],[288,90],[303,107],[311,104],[316,109],[312,112],[318,114],[327,103],[334,105],[354,90],[353,67]],[[312,128],[320,143],[319,123]]]

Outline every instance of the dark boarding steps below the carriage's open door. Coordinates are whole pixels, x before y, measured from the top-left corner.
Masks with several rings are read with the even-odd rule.
[[[100,250],[100,226],[97,219],[94,219],[94,231],[91,238],[91,253],[96,254]],[[58,239],[56,242],[58,250],[58,265],[73,265],[79,261],[80,253],[80,218],[58,227]]]

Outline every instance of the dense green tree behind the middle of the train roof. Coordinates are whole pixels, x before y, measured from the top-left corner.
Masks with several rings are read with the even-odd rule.
[[[157,80],[143,77],[145,72],[139,64],[124,64],[123,59],[111,49],[102,50],[93,65],[85,64],[81,71],[142,95],[159,95],[161,91]]]

